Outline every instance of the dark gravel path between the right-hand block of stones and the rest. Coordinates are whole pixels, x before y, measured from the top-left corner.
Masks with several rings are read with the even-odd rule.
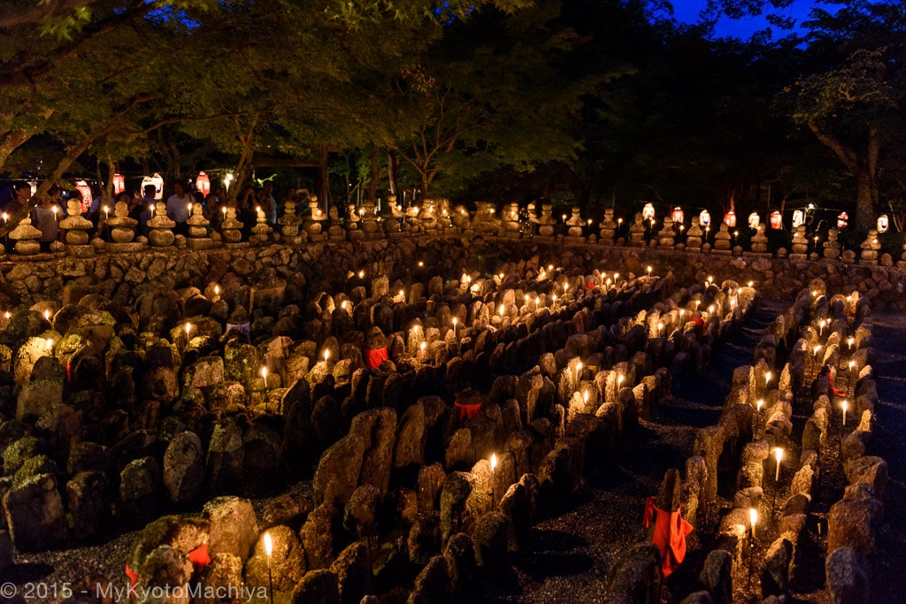
[[[718,421],[733,369],[752,363],[766,325],[785,309],[786,302],[762,304],[740,331],[719,343],[708,367],[687,380],[650,422],[641,422],[622,455],[590,476],[560,513],[535,527],[533,549],[515,554],[515,570],[477,586],[476,595],[483,601],[539,604],[602,601],[613,562],[645,538],[644,498],[657,493],[667,469],[683,470],[698,428]],[[678,571],[670,578],[675,593],[685,596],[694,590],[689,583],[705,553],[693,533],[687,564],[696,570],[694,576]]]

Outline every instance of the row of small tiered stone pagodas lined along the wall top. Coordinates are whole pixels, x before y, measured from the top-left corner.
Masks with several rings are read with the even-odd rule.
[[[265,244],[279,241],[284,244],[302,244],[305,242],[340,242],[343,240],[356,241],[361,239],[381,239],[385,237],[396,238],[407,235],[487,235],[506,238],[534,237],[542,241],[554,243],[561,237],[566,244],[627,244],[633,247],[660,247],[668,249],[683,249],[689,252],[709,252],[711,254],[736,254],[736,255],[765,255],[768,252],[768,239],[766,226],[758,225],[757,231],[751,237],[751,249],[743,250],[736,242],[736,233],[730,233],[726,223],[720,223],[713,237],[710,235],[710,225],[704,228],[699,223],[699,216],[693,216],[689,230],[685,225],[674,225],[670,216],[664,218],[660,230],[655,234],[653,219],[648,222],[641,214],[636,214],[628,229],[628,239],[619,237],[622,227],[622,218],[614,218],[613,210],[604,210],[604,218],[598,224],[598,235],[592,232],[593,221],[585,220],[581,210],[573,207],[570,216],[563,216],[564,233],[555,235],[557,220],[553,216],[553,206],[541,206],[541,214],[536,212],[534,203],[525,208],[525,213],[516,203],[506,204],[504,210],[497,214],[494,204],[478,202],[474,215],[467,212],[464,206],[455,206],[452,209],[449,201],[425,199],[419,206],[403,209],[396,203],[396,197],[390,196],[387,203],[379,210],[374,202],[366,201],[357,208],[349,205],[346,216],[339,216],[336,206],[331,206],[329,215],[325,215],[318,203],[318,198],[308,198],[308,210],[304,216],[298,216],[295,203],[292,200],[284,202],[284,214],[277,219],[278,233],[274,232],[271,225],[267,224],[265,212],[258,208],[256,224],[250,229],[249,243]],[[379,202],[380,203],[380,202]],[[111,252],[138,251],[145,245],[154,247],[167,247],[170,245],[188,246],[191,249],[209,249],[220,244],[243,243],[245,226],[236,219],[236,207],[224,207],[223,219],[219,229],[213,230],[208,219],[203,216],[202,206],[192,206],[191,216],[188,217],[188,236],[175,235],[173,229],[176,223],[167,216],[167,205],[159,202],[148,221],[148,235],[138,235],[139,222],[129,216],[129,208],[125,203],[119,202],[113,210],[113,216],[105,216],[101,223],[101,230],[107,230],[109,241],[102,237],[95,237],[90,242],[89,231],[94,228],[92,222],[86,220],[81,212],[78,200],[69,202],[69,216],[60,223],[64,232],[62,242],[53,242],[51,251],[67,252],[74,256],[88,256],[96,250]],[[685,231],[685,233],[684,233]],[[587,235],[586,235],[587,234]],[[677,238],[685,235],[681,243]],[[37,254],[40,252],[38,239],[41,231],[31,225],[25,218],[9,234],[17,254]],[[713,244],[711,240],[713,239]],[[0,246],[2,247],[2,246]],[[808,254],[809,240],[806,235],[805,225],[799,225],[793,235],[792,251],[789,257],[793,260],[811,258],[817,260],[817,250]],[[878,233],[872,229],[868,237],[861,244],[859,261],[861,264],[877,264],[881,244]],[[4,250],[5,251],[5,250]],[[828,260],[843,260],[854,262],[853,251],[842,252],[842,246],[837,241],[836,229],[827,232],[827,241],[823,244],[823,256]],[[786,255],[786,250],[779,250],[778,255]],[[906,245],[901,260],[906,262]]]

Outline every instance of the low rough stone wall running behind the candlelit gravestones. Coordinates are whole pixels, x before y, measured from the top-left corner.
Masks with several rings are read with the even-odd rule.
[[[7,256],[9,257],[9,256]],[[875,308],[906,309],[906,270],[829,261],[693,254],[662,248],[630,248],[597,244],[546,244],[496,238],[404,238],[338,244],[240,244],[231,249],[193,251],[186,248],[148,249],[138,254],[99,254],[74,258],[40,254],[0,263],[0,311],[29,307],[35,302],[74,302],[85,293],[101,294],[130,306],[144,292],[159,288],[198,287],[212,283],[225,296],[247,296],[247,286],[275,289],[286,301],[304,301],[310,284],[341,290],[348,280],[362,285],[386,274],[390,286],[419,274],[419,262],[448,278],[464,268],[488,273],[506,262],[529,267],[556,264],[582,273],[597,270],[656,274],[672,271],[681,283],[690,278],[754,282],[766,297],[790,298],[813,278],[823,279],[831,293],[858,290]]]

